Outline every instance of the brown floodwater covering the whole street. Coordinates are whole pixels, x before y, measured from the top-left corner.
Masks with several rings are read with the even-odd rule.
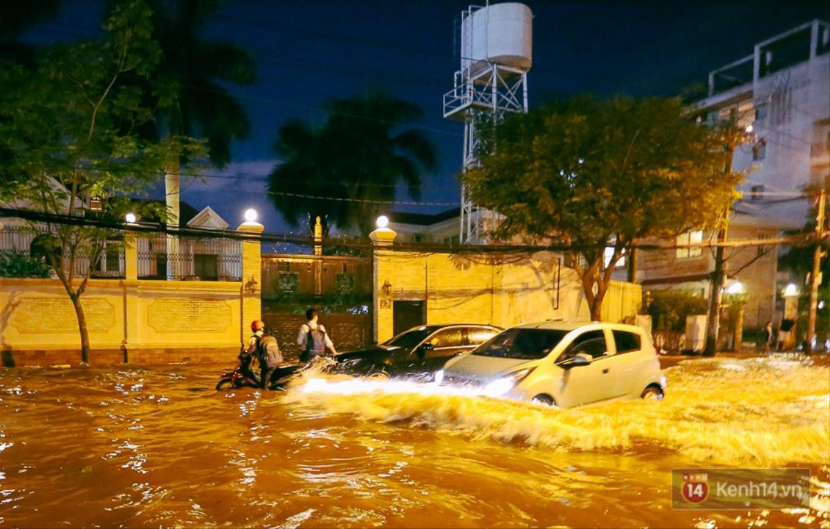
[[[689,360],[662,402],[581,410],[221,371],[0,371],[0,526],[830,527],[827,364]],[[671,468],[706,466],[807,466],[811,507],[673,510]]]

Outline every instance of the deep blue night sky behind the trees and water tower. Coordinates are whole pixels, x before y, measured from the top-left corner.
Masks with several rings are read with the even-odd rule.
[[[813,18],[830,2],[545,2],[534,12],[530,104],[549,95],[676,95],[706,83],[709,70],[753,51],[755,42]],[[103,0],[66,0],[60,15],[29,32],[45,43],[97,32]],[[454,27],[467,2],[416,0],[228,1],[205,37],[234,41],[258,63],[256,84],[227,85],[247,109],[251,135],[233,145],[232,163],[207,184],[183,184],[183,200],[212,206],[232,227],[256,207],[266,231],[286,226],[264,196],[277,163],[276,131],[291,118],[322,123],[325,100],[381,89],[420,104],[439,148],[440,170],[425,177],[422,201],[457,202],[461,124],[442,119],[442,95],[458,69]],[[232,179],[229,177],[244,177]],[[159,194],[160,196],[160,194]],[[405,190],[399,200],[408,200]],[[447,206],[394,206],[437,212]],[[300,228],[299,231],[305,232]]]

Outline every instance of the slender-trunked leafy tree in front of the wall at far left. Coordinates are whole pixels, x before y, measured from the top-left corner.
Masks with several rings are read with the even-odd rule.
[[[108,246],[123,245],[122,232],[85,222],[91,198],[99,216],[123,220],[137,206],[131,196],[157,182],[167,160],[199,158],[202,143],[183,136],[147,142],[135,132],[153,118],[152,95],[120,83],[125,76],[149,79],[161,49],[152,37],[151,11],[143,0],[121,2],[99,40],[54,46],[32,69],[0,67],[0,178],[17,182],[13,203],[51,214],[37,239],[75,308],[81,361],[90,341],[81,297]],[[161,216],[152,203],[141,215]],[[53,221],[54,219],[54,221]]]

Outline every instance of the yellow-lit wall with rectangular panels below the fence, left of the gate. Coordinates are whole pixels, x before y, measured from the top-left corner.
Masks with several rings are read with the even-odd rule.
[[[246,336],[241,291],[240,282],[90,279],[81,297],[90,363],[232,360]],[[5,365],[76,364],[80,349],[60,281],[0,278]]]

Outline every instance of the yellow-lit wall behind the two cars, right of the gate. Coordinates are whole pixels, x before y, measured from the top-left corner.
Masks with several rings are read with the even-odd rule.
[[[374,253],[374,339],[393,335],[393,302],[425,301],[426,323],[489,323],[508,328],[547,319],[588,320],[573,269],[559,254],[498,257],[419,254],[378,247]],[[640,287],[615,281],[603,319],[637,313]]]

